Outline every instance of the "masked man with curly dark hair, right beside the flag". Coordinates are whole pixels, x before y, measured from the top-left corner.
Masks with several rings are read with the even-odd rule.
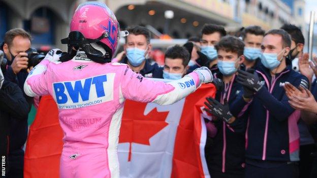
[[[234,117],[220,119],[223,117],[218,116],[212,107],[213,104],[221,104],[223,105],[221,110],[227,109],[228,112],[228,104],[237,99],[242,92],[242,85],[237,83],[236,77],[237,69],[244,62],[244,44],[237,37],[227,36],[215,45],[215,49],[218,54],[219,73],[214,76],[224,81],[225,89],[217,90],[215,99],[208,98],[208,103],[206,103],[210,108],[207,112],[213,114],[212,123],[217,129],[217,133],[212,139],[212,146],[206,149],[207,164],[211,177],[244,177],[244,131],[233,130],[227,122],[233,123]],[[209,127],[207,126],[207,128]]]

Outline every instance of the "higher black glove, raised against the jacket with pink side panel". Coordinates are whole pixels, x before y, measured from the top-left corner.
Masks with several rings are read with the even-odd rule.
[[[244,90],[246,96],[258,92],[263,87],[263,82],[259,80],[259,76],[254,72],[253,69],[248,69],[247,71],[238,70],[237,82],[249,90]]]

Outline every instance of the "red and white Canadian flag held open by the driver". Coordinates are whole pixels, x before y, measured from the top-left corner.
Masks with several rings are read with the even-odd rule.
[[[210,177],[204,156],[203,108],[214,85],[167,106],[126,100],[120,128],[120,177]],[[30,126],[24,177],[58,177],[62,131],[52,97],[41,99]]]

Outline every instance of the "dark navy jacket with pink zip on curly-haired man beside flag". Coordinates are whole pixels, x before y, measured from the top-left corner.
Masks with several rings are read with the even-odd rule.
[[[214,77],[223,78],[221,73],[214,74]],[[243,92],[242,86],[236,82],[235,78],[236,76],[234,76],[230,83],[225,84],[225,91],[216,92],[215,99],[217,101],[223,102],[225,98],[228,99],[230,104]],[[226,172],[229,174],[243,175],[244,132],[236,132],[226,122],[220,120],[214,122],[214,125],[217,128],[217,133],[212,140],[209,140],[212,141],[213,144],[206,150],[209,170],[211,172]]]

